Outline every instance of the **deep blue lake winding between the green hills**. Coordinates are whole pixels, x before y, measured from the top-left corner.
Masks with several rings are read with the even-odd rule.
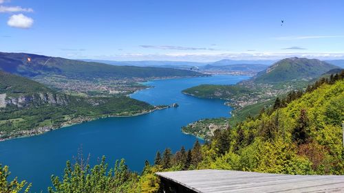
[[[125,158],[131,170],[140,172],[144,161],[151,163],[155,152],[181,146],[191,148],[196,138],[184,135],[182,126],[206,117],[228,117],[229,106],[223,100],[194,98],[181,93],[183,89],[199,84],[235,84],[248,76],[211,76],[180,78],[145,82],[144,89],[131,98],[150,104],[172,104],[178,108],[154,111],[136,117],[109,117],[77,124],[34,137],[0,142],[0,163],[10,166],[12,176],[32,182],[32,190],[46,191],[51,174],[61,174],[65,161],[72,159],[82,146],[84,155],[90,154],[90,163],[105,155],[110,166],[116,159]]]

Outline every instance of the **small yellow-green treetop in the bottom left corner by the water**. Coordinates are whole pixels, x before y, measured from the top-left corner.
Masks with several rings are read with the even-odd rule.
[[[0,192],[2,193],[17,193],[25,190],[24,192],[29,192],[31,183],[28,184],[26,181],[19,182],[17,177],[14,178],[12,181],[8,181],[8,177],[10,176],[11,172],[8,169],[8,166],[2,167],[0,164]]]

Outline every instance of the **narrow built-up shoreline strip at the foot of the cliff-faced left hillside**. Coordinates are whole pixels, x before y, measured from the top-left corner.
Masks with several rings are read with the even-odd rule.
[[[43,135],[45,133],[48,133],[52,130],[58,130],[60,128],[66,128],[69,126],[74,126],[77,124],[82,124],[85,122],[93,122],[96,120],[100,120],[100,119],[105,119],[105,118],[109,118],[109,117],[136,117],[136,116],[140,116],[140,115],[146,115],[149,113],[153,113],[154,111],[158,111],[158,110],[163,110],[163,109],[169,109],[171,108],[171,105],[166,105],[166,106],[155,106],[154,109],[151,109],[149,111],[142,111],[140,113],[135,113],[133,115],[103,115],[100,117],[76,117],[76,122],[73,122],[72,120],[69,120],[67,122],[64,122],[63,124],[61,124],[61,126],[58,126],[56,128],[52,127],[52,126],[46,126],[46,127],[41,127],[41,128],[34,128],[32,130],[26,130],[27,132],[32,132],[28,135],[21,135],[18,137],[8,137],[6,139],[0,139],[0,143],[2,141],[8,141],[11,139],[19,139],[19,138],[24,138],[24,137],[33,137],[33,136],[37,136],[37,135]],[[80,121],[78,121],[77,119],[80,118]],[[71,122],[72,121],[72,122]]]

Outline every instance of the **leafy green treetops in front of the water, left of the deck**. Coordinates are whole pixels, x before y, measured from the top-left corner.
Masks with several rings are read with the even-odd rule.
[[[71,165],[67,161],[63,179],[52,176],[53,187],[48,188],[50,193],[59,192],[138,192],[138,176],[129,172],[124,159],[118,163],[115,168],[108,168],[103,157],[100,164],[90,168],[85,168],[79,163]]]

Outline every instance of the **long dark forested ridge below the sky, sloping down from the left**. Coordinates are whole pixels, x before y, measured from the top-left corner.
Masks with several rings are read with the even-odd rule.
[[[195,71],[181,69],[115,66],[35,54],[3,52],[0,52],[0,69],[27,77],[61,75],[78,79],[203,76]]]

